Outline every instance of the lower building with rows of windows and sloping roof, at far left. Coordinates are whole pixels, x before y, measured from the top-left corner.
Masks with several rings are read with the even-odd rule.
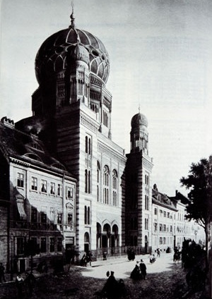
[[[37,136],[16,130],[10,119],[1,119],[0,135],[1,261],[15,272],[28,269],[29,240],[33,267],[62,259],[76,239],[76,179]]]

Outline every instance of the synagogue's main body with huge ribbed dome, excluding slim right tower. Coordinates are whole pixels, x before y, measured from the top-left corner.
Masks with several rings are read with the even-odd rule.
[[[35,59],[39,87],[33,116],[16,124],[39,135],[47,150],[77,179],[76,226],[64,249],[80,252],[119,248],[124,238],[124,168],[122,147],[112,141],[112,95],[106,88],[110,60],[102,41],[76,28],[54,33]],[[66,219],[62,219],[66,225]]]

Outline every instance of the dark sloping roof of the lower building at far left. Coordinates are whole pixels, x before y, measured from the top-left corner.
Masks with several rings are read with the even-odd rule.
[[[10,161],[12,158],[43,169],[71,176],[61,162],[52,157],[36,135],[17,130],[9,118],[1,118],[0,150]]]

